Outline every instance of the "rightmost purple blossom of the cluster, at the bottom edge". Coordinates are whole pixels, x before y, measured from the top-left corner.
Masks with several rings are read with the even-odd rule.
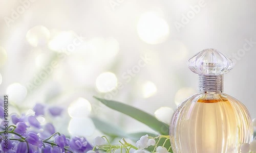
[[[70,147],[78,152],[86,152],[87,150],[91,150],[92,146],[86,141],[85,138],[73,137],[70,140]]]

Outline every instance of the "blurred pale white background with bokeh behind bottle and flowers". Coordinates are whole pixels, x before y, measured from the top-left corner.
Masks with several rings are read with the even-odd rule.
[[[11,113],[36,103],[61,108],[45,115],[57,131],[101,135],[89,116],[126,132],[152,131],[106,108],[93,95],[118,100],[168,123],[197,92],[186,61],[216,48],[234,62],[224,91],[256,118],[256,2],[249,1],[0,1],[0,93]],[[80,128],[80,129],[78,129]]]

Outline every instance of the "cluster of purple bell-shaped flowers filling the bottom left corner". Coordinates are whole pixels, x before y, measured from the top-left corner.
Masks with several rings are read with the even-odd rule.
[[[4,119],[3,104],[0,100],[0,117]],[[5,120],[0,125],[0,152],[86,152],[92,150],[92,146],[86,138],[71,137],[55,131],[51,123],[44,125],[37,120],[39,115],[45,114],[44,106],[37,104],[34,107],[35,115],[11,116],[11,125],[5,126]],[[56,110],[56,111],[55,111]],[[52,116],[61,114],[60,108],[49,110]],[[52,112],[52,113],[51,113]],[[6,138],[7,136],[7,138]]]

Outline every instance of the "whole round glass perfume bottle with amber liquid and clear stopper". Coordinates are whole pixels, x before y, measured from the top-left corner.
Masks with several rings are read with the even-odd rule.
[[[170,143],[174,153],[238,153],[253,139],[253,127],[246,107],[223,93],[223,74],[233,61],[216,49],[204,49],[187,62],[199,74],[198,93],[175,110],[170,122]]]

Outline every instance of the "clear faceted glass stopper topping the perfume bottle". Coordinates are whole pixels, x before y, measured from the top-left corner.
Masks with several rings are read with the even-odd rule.
[[[204,49],[187,61],[188,68],[197,74],[220,75],[229,72],[233,61],[216,49]]]

